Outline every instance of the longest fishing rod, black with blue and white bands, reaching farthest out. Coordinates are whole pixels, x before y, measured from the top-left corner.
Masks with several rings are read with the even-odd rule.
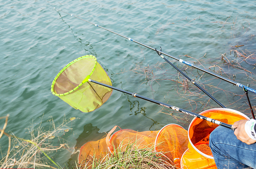
[[[54,7],[53,9],[54,9],[55,11],[57,10],[55,7]],[[62,11],[62,10],[58,10],[58,11]],[[58,12],[58,11],[57,11],[57,12]],[[144,46],[144,47],[147,47],[147,48],[149,48],[149,49],[155,51],[155,48],[152,48],[152,47],[150,47],[150,46],[148,46],[148,45],[145,45],[145,44],[143,44],[143,43],[140,43],[140,42],[138,42],[138,41],[136,41],[136,40],[133,40],[133,39],[131,39],[131,38],[128,38],[128,37],[126,37],[126,36],[124,36],[124,35],[121,35],[121,34],[119,34],[119,33],[113,32],[113,31],[111,31],[111,30],[109,30],[109,29],[106,29],[106,28],[104,28],[104,27],[101,27],[100,25],[97,25],[97,24],[94,24],[94,23],[89,22],[89,21],[87,21],[87,20],[84,20],[84,19],[82,19],[82,18],[80,18],[80,17],[78,17],[78,16],[75,16],[75,15],[73,15],[73,14],[70,14],[70,13],[68,13],[68,12],[65,12],[65,11],[62,11],[62,12],[66,13],[66,14],[68,14],[68,15],[71,15],[71,16],[77,18],[77,19],[80,19],[80,20],[82,20],[82,21],[88,22],[88,23],[90,23],[90,24],[92,24],[92,25],[95,25],[95,26],[97,26],[97,27],[99,27],[99,28],[101,28],[101,29],[104,29],[104,30],[106,30],[106,31],[112,32],[112,33],[114,33],[114,34],[116,34],[116,35],[119,35],[119,36],[121,36],[121,37],[123,37],[123,38],[126,38],[126,39],[132,41],[132,42],[135,42],[135,43],[137,43],[137,44],[140,44],[140,45],[142,45],[142,46]],[[194,64],[191,64],[191,63],[189,63],[189,62],[187,62],[187,61],[185,61],[185,60],[183,60],[183,59],[178,59],[178,58],[176,58],[176,57],[174,57],[174,56],[172,56],[172,55],[169,55],[169,54],[167,54],[167,53],[164,53],[164,52],[162,52],[162,51],[158,51],[158,50],[156,50],[156,51],[159,52],[159,53],[161,53],[161,54],[164,54],[164,55],[166,55],[166,56],[168,56],[168,57],[171,57],[171,58],[173,58],[173,59],[175,59],[175,60],[177,60],[177,61],[179,61],[179,62],[181,62],[181,63],[184,63],[184,64],[186,64],[186,65],[188,65],[188,66],[190,66],[190,67],[192,67],[192,68],[196,68],[196,69],[198,69],[198,70],[200,70],[200,71],[202,71],[202,72],[205,72],[205,73],[207,73],[207,74],[211,74],[211,75],[213,75],[213,76],[215,76],[215,77],[217,77],[217,78],[219,78],[219,79],[222,79],[222,80],[224,80],[224,81],[226,81],[226,82],[229,82],[229,83],[231,83],[231,84],[233,84],[233,85],[236,85],[236,86],[238,86],[238,87],[240,87],[240,88],[242,88],[242,89],[244,88],[245,90],[248,90],[248,91],[250,91],[250,92],[256,94],[256,90],[255,90],[255,89],[252,89],[252,88],[250,88],[250,87],[244,86],[244,85],[242,85],[241,83],[237,83],[237,82],[235,82],[235,81],[233,81],[233,80],[230,80],[230,79],[228,79],[228,78],[226,78],[226,77],[223,77],[223,76],[220,76],[220,75],[215,74],[215,73],[213,73],[213,72],[210,72],[210,71],[208,71],[208,70],[206,70],[206,69],[200,68],[200,67],[198,67],[198,66],[196,66],[196,65],[194,65]]]

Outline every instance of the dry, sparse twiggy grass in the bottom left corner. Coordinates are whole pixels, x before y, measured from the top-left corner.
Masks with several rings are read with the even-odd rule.
[[[2,129],[0,128],[0,139],[3,135],[9,139],[9,142],[5,143],[8,144],[7,152],[4,153],[1,150],[2,159],[0,160],[0,168],[60,168],[52,160],[51,156],[53,152],[64,147],[67,148],[67,144],[63,143],[59,144],[59,146],[53,146],[52,144],[54,142],[52,139],[56,136],[59,141],[62,140],[59,135],[63,135],[65,131],[71,130],[71,128],[67,127],[67,124],[71,120],[66,120],[64,117],[62,124],[56,127],[53,119],[49,119],[50,126],[46,131],[41,126],[41,121],[37,129],[33,129],[32,127],[29,131],[30,138],[24,139],[15,136],[13,133],[9,134],[9,132],[6,133],[4,131],[7,126],[8,117],[9,115],[0,117],[0,119],[6,119],[4,127]]]

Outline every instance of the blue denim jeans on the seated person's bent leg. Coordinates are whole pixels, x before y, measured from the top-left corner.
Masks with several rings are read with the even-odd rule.
[[[256,143],[243,143],[231,129],[218,126],[210,135],[209,145],[218,169],[256,168]]]

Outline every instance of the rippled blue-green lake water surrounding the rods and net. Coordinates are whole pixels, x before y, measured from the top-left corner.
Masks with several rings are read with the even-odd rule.
[[[5,131],[30,139],[29,130],[41,121],[47,130],[51,117],[56,126],[64,117],[76,117],[63,136],[70,151],[54,158],[62,166],[73,147],[98,139],[115,125],[146,131],[177,123],[187,129],[192,119],[117,91],[93,112],[73,109],[52,95],[50,86],[58,72],[80,56],[96,56],[117,88],[195,113],[220,106],[155,51],[53,7],[256,88],[256,1],[2,0],[0,116],[10,114]],[[227,108],[251,117],[241,88],[166,58]],[[256,95],[249,92],[249,97],[255,110]],[[58,144],[57,138],[52,141]],[[3,136],[0,144],[6,152],[8,138]]]

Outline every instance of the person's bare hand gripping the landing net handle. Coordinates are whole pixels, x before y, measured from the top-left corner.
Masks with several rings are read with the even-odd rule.
[[[256,140],[251,139],[244,130],[244,125],[246,121],[248,120],[239,120],[232,125],[232,127],[236,129],[234,131],[234,134],[236,135],[237,139],[239,139],[240,141],[246,144],[253,144],[256,142]]]

